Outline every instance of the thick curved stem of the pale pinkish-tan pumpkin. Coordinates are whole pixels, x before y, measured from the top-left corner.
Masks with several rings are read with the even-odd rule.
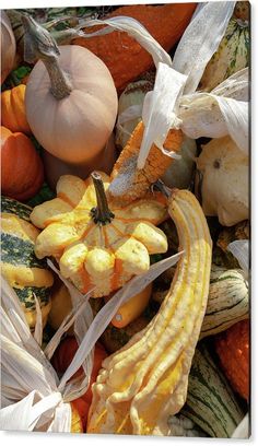
[[[51,83],[51,93],[60,101],[69,96],[72,85],[59,63],[60,51],[50,33],[40,26],[31,15],[23,14],[24,60],[34,63],[40,59],[45,64]]]

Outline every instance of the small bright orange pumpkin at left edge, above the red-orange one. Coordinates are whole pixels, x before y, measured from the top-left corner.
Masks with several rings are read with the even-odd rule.
[[[23,84],[1,93],[1,122],[9,130],[31,133],[25,113],[25,90]]]

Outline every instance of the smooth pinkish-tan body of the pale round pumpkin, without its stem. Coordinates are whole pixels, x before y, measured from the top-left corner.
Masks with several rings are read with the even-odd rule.
[[[117,92],[106,66],[85,48],[61,46],[59,63],[69,77],[71,93],[56,99],[48,72],[38,61],[26,85],[27,121],[37,141],[54,156],[86,163],[104,150],[113,131]]]

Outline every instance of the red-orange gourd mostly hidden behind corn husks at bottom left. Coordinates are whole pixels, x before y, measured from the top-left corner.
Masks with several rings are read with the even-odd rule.
[[[57,350],[54,353],[51,359],[51,364],[58,374],[63,374],[68,366],[71,364],[72,359],[78,350],[78,342],[74,337],[70,336],[63,339],[60,342]],[[80,421],[82,423],[82,431],[86,432],[86,422],[87,422],[87,412],[92,401],[92,385],[95,383],[96,377],[98,375],[98,371],[102,367],[103,360],[107,356],[107,353],[104,347],[97,342],[94,350],[94,362],[93,362],[93,369],[92,376],[90,380],[89,388],[82,397],[77,398],[71,402],[72,404],[72,412],[74,410],[74,420],[72,420],[72,424],[77,426],[78,430],[73,430],[73,432],[80,432]],[[80,376],[83,373],[83,368],[80,367],[77,373],[73,375],[72,378]],[[80,415],[80,419],[78,416]],[[77,415],[77,422],[75,422]]]

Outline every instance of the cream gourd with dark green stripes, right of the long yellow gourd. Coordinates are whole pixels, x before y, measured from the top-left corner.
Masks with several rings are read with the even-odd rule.
[[[209,298],[200,338],[226,330],[249,317],[248,282],[243,271],[212,265]]]

